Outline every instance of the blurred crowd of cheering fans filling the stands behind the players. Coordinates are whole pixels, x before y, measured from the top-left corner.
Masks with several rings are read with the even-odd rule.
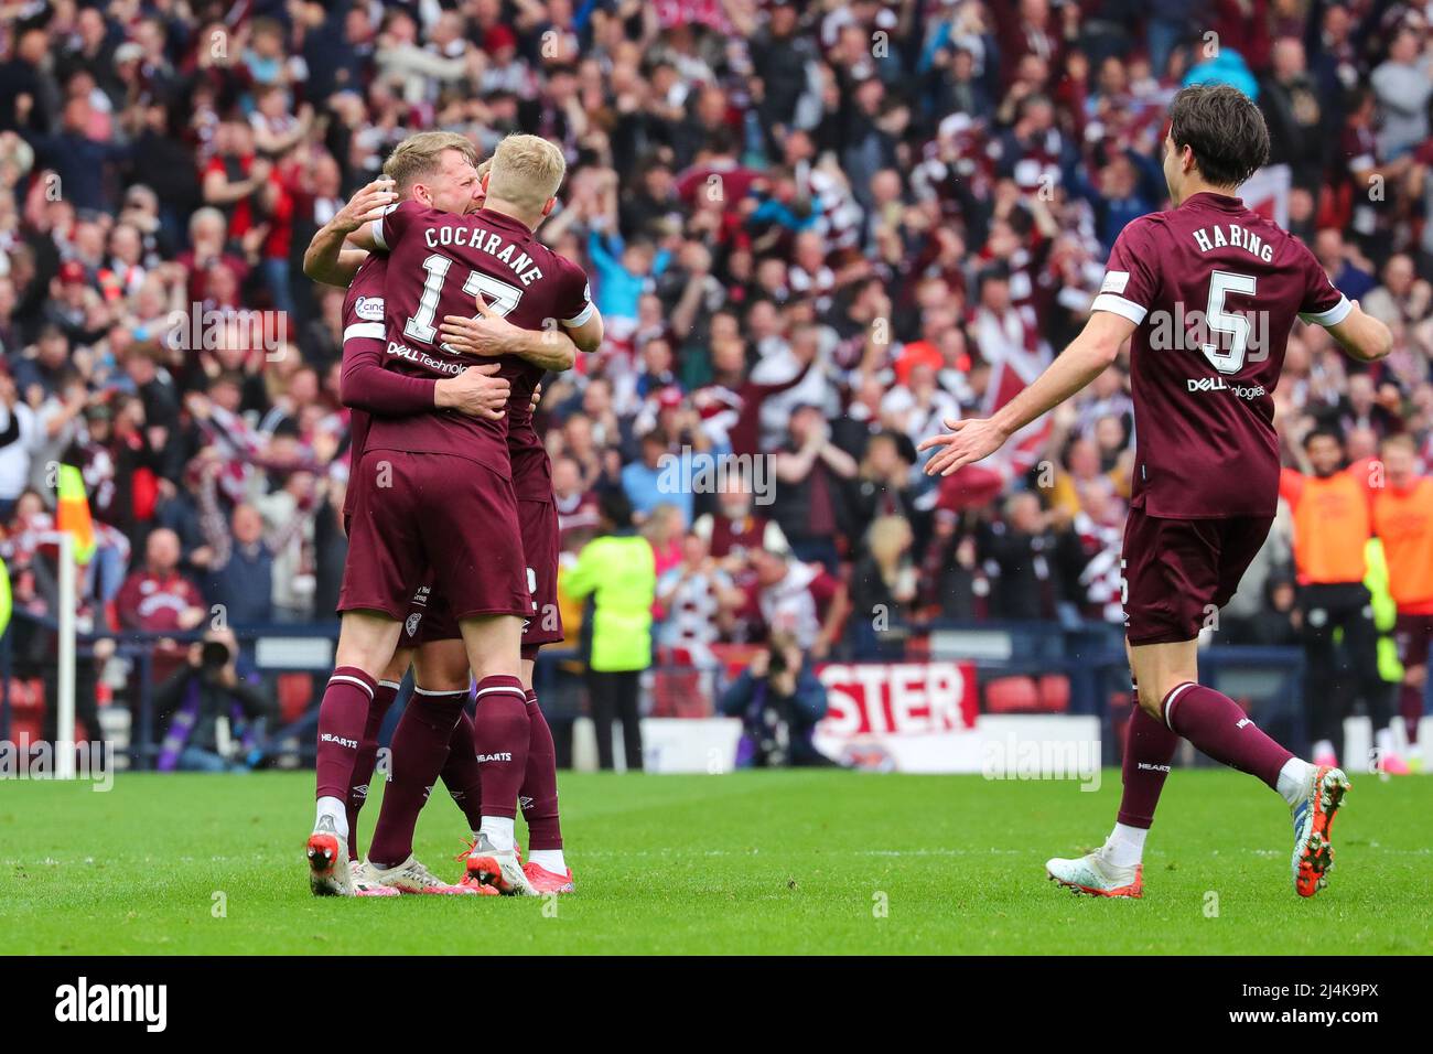
[[[216,604],[236,628],[332,622],[342,291],[301,258],[398,141],[441,128],[481,153],[516,130],[566,152],[540,237],[586,267],[608,340],[539,409],[563,549],[599,528],[600,493],[626,495],[666,658],[772,630],[868,658],[936,619],[1118,628],[1125,363],[995,465],[934,482],[914,447],[1079,330],[1121,228],[1166,204],[1168,100],[1208,79],[1257,98],[1287,166],[1277,208],[1396,337],[1361,369],[1297,327],[1290,463],[1315,424],[1350,460],[1406,432],[1427,463],[1419,6],[0,0],[16,608],[53,601],[37,536],[66,460],[97,521],[86,628],[193,630]],[[770,455],[770,479],[674,488],[684,452]],[[1280,642],[1288,536],[1221,634]],[[563,614],[580,625],[580,604]],[[50,647],[33,637],[21,650]]]

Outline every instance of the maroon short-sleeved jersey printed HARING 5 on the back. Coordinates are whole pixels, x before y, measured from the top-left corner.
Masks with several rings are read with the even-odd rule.
[[[1238,198],[1191,195],[1115,241],[1095,311],[1131,340],[1135,479],[1149,516],[1273,516],[1274,387],[1295,317],[1334,326],[1350,304],[1308,248]]]

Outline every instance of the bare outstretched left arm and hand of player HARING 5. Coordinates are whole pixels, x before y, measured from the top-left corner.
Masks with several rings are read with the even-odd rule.
[[[1005,440],[1043,413],[1049,413],[1102,374],[1129,340],[1135,324],[1113,311],[1095,311],[1080,334],[1035,379],[992,417],[946,420],[946,432],[924,440],[919,449],[944,447],[926,462],[926,475],[949,476],[999,450]]]

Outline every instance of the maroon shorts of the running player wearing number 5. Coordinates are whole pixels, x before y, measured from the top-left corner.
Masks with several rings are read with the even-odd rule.
[[[1125,521],[1125,637],[1131,644],[1192,641],[1240,588],[1273,516]]]

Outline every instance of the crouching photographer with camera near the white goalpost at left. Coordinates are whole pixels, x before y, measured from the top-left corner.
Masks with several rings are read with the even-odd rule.
[[[274,707],[252,673],[239,673],[232,630],[209,630],[189,645],[188,661],[155,693],[169,718],[160,771],[248,771],[261,723]]]

